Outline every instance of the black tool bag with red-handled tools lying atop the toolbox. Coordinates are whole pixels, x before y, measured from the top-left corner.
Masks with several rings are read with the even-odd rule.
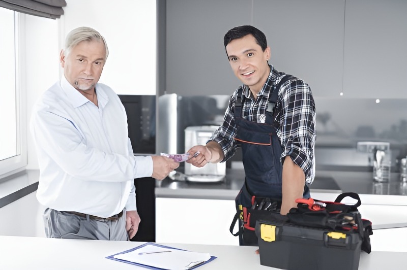
[[[352,197],[357,200],[355,205],[345,205],[341,203],[345,197]],[[309,204],[299,203],[297,208],[290,209],[287,214],[289,223],[342,231],[344,233],[355,233],[360,235],[362,245],[361,250],[370,253],[370,235],[372,223],[367,219],[362,219],[358,211],[361,205],[360,197],[357,193],[346,192],[340,194],[335,201],[322,201],[313,199],[316,208]]]

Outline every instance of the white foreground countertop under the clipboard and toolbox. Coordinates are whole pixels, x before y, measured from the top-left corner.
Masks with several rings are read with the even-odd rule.
[[[361,252],[359,270],[405,269],[407,228],[380,230],[371,238],[372,252]],[[397,245],[393,240],[397,238]],[[91,241],[0,236],[0,269],[146,269],[105,257],[141,242]],[[257,247],[164,244],[210,253],[217,258],[198,269],[276,269],[260,265]],[[397,246],[397,248],[395,248]],[[397,252],[395,252],[395,251]]]

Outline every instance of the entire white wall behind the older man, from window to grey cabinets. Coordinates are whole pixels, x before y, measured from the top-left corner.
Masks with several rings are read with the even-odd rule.
[[[98,30],[106,39],[109,57],[101,83],[118,94],[156,94],[156,1],[67,0],[65,15],[51,20],[25,15],[27,126],[35,100],[59,80],[59,53],[65,36],[79,26]],[[113,4],[114,3],[114,4]],[[27,169],[38,169],[28,128]]]

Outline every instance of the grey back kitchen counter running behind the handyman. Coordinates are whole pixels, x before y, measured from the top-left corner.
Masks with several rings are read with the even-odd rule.
[[[156,181],[156,197],[235,199],[244,183],[243,168],[226,168],[224,181],[197,183],[173,181],[169,177]],[[394,173],[388,183],[376,183],[372,172],[317,171],[309,186],[311,196],[322,200],[335,199],[342,192],[356,192],[364,204],[407,206],[407,183],[398,181]]]

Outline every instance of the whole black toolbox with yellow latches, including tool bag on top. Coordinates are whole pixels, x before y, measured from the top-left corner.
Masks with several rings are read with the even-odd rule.
[[[355,205],[341,203],[344,197]],[[334,202],[297,199],[286,216],[257,220],[260,264],[288,270],[357,270],[361,250],[370,253],[371,222],[357,207],[359,195],[340,194]]]

